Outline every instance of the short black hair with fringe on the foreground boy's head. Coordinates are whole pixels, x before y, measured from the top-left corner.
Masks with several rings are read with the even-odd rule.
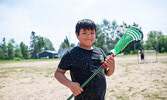
[[[75,27],[75,32],[77,32],[78,35],[81,28],[96,31],[96,24],[90,19],[82,19],[77,22]]]

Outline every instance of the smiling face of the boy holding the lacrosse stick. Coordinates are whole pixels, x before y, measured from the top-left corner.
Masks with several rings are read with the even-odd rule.
[[[80,29],[79,35],[76,36],[80,42],[80,46],[91,47],[95,41],[95,30]]]

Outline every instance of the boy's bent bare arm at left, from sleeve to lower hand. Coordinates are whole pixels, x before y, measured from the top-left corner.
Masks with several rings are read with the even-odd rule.
[[[79,95],[83,89],[80,88],[80,84],[77,82],[72,82],[70,81],[64,74],[65,74],[66,70],[57,68],[54,76],[55,78],[63,85],[67,86],[68,88],[70,88],[70,90],[73,92],[74,96]]]

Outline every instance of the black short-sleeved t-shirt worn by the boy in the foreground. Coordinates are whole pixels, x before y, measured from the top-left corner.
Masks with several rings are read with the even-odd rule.
[[[100,48],[94,47],[92,50],[85,50],[74,47],[64,54],[58,67],[70,70],[72,81],[82,84],[100,67],[101,56],[105,60],[106,55]],[[80,95],[75,97],[75,100],[104,100],[106,93],[104,70],[101,70],[83,90]]]

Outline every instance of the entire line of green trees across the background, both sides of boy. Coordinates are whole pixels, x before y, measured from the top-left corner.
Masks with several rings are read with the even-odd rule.
[[[114,48],[115,44],[123,36],[124,32],[119,30],[123,28],[123,25],[118,25],[114,20],[112,22],[104,19],[101,24],[96,24],[96,39],[93,46],[100,47],[108,54],[108,50]],[[125,27],[135,26],[142,30],[142,27],[135,22],[132,25],[125,23]],[[58,52],[60,53],[66,48],[75,47],[74,43],[70,43],[68,37],[66,36],[64,41],[61,43]],[[146,41],[141,41],[139,43],[132,43],[126,50],[125,54],[135,54],[139,49],[144,50],[157,50],[159,53],[167,52],[167,36],[163,35],[161,31],[150,31],[147,34]],[[37,53],[43,50],[55,50],[52,42],[45,37],[38,36],[34,31],[30,35],[30,46],[21,42],[16,44],[14,39],[10,39],[8,43],[5,37],[2,42],[0,42],[0,59],[34,59]]]

